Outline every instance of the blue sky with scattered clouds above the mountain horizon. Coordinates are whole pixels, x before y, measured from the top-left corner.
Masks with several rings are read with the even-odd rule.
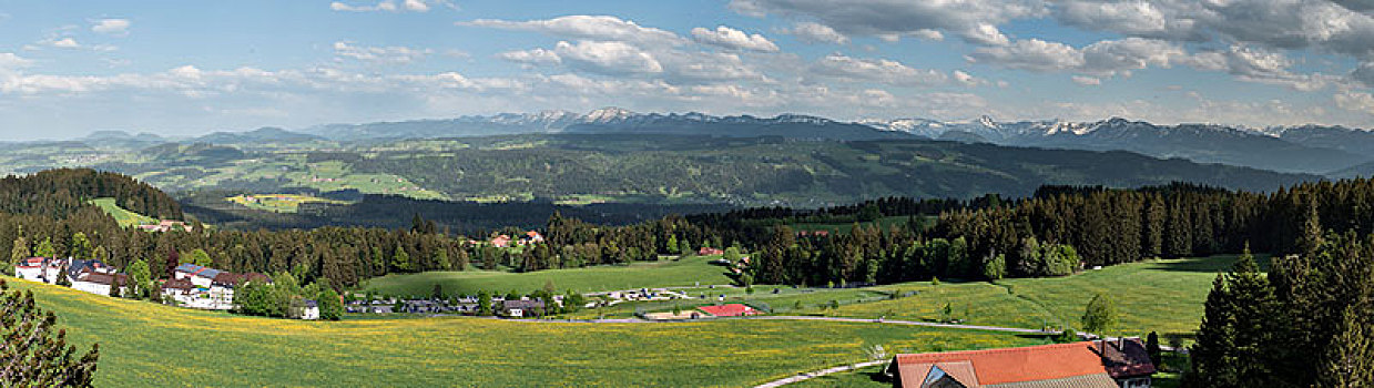
[[[469,114],[1374,127],[1374,0],[0,0],[0,140]]]

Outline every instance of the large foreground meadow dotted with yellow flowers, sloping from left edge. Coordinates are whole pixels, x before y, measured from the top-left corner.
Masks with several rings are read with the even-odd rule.
[[[1044,343],[879,323],[302,322],[33,290],[73,343],[100,343],[98,387],[746,387],[900,352]]]

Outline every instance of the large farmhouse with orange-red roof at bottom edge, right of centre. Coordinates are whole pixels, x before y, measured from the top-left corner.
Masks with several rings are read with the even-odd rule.
[[[897,388],[1149,388],[1154,365],[1139,340],[897,355]]]

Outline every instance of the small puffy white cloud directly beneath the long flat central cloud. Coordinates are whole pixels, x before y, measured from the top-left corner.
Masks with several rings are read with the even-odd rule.
[[[565,63],[594,73],[625,76],[664,72],[664,66],[651,54],[621,41],[559,41],[554,52]]]

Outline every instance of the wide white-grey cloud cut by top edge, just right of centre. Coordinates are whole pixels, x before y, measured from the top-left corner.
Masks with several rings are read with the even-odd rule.
[[[813,18],[848,36],[929,37],[933,30],[954,33],[977,44],[1004,44],[1007,37],[998,25],[1048,12],[1048,7],[1039,0],[853,0],[844,6],[829,0],[734,0],[730,8],[742,14]]]

